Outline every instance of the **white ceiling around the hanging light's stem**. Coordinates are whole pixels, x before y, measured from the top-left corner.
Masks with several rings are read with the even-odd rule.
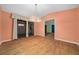
[[[15,13],[22,16],[33,16],[35,15],[34,4],[1,4],[3,10]],[[45,16],[51,12],[63,11],[71,8],[78,7],[78,4],[38,4],[37,5],[37,16]]]

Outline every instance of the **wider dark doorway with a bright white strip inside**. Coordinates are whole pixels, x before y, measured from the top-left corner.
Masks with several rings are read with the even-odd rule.
[[[26,21],[17,20],[17,36],[18,38],[26,37]]]

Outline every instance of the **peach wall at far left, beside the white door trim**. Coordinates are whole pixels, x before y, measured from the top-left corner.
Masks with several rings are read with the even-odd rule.
[[[12,19],[11,14],[8,12],[1,12],[1,29],[2,29],[2,39],[0,42],[10,41],[12,35]]]

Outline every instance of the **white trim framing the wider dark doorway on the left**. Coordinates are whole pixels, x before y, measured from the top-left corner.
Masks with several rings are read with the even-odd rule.
[[[24,20],[26,21],[26,37],[28,37],[28,17],[24,17],[21,15],[17,15],[17,14],[12,14],[12,18],[13,18],[13,39],[17,39],[17,20]]]

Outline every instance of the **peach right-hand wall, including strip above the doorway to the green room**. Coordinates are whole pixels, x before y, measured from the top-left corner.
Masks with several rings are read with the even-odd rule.
[[[55,18],[55,39],[79,43],[79,8],[51,13],[43,18],[45,20]]]

